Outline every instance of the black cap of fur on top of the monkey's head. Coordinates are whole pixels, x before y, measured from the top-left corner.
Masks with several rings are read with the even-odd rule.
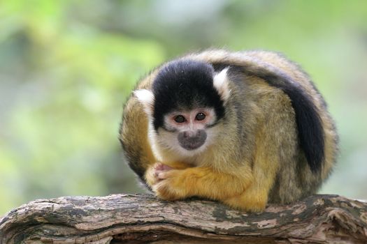
[[[163,66],[152,84],[154,129],[163,127],[164,115],[175,110],[213,107],[221,119],[224,105],[213,77],[213,66],[201,61],[179,59]]]

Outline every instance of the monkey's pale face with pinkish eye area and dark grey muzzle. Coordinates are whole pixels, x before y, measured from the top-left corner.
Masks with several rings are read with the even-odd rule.
[[[215,121],[215,110],[210,108],[171,112],[164,116],[164,126],[157,136],[176,151],[203,151],[210,142],[210,128]]]

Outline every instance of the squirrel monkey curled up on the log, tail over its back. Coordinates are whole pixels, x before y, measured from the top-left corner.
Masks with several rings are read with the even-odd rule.
[[[326,103],[275,52],[208,50],[164,63],[124,106],[120,142],[157,197],[245,211],[314,194],[336,161]]]

